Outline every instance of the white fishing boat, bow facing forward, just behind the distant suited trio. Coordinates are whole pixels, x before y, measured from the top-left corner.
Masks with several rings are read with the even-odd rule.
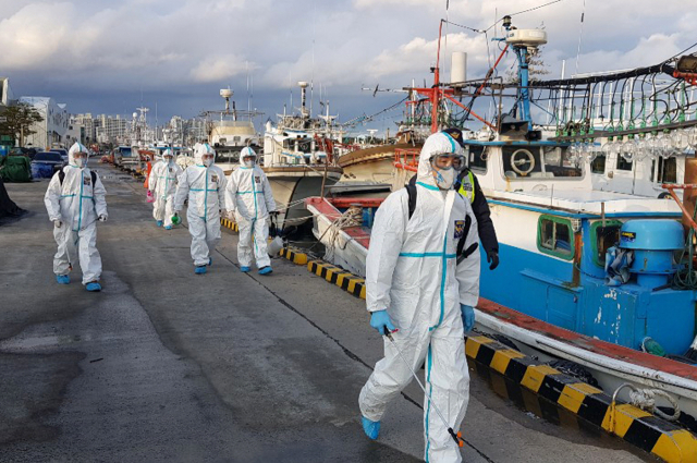
[[[277,124],[267,122],[264,135],[262,169],[269,179],[273,199],[280,207],[281,228],[291,231],[310,218],[304,199],[323,195],[325,188],[341,179],[334,144],[341,143],[343,130],[335,117],[313,118],[307,108],[307,82],[298,82],[298,113],[278,114]]]

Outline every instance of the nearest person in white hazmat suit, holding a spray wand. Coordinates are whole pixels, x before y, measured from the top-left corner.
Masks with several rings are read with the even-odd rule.
[[[386,328],[393,331],[414,370],[426,360],[425,386],[432,400],[424,400],[427,462],[462,461],[432,409],[456,432],[469,401],[464,332],[474,326],[480,257],[474,252],[479,237],[472,206],[453,190],[464,162],[462,147],[450,135],[429,136],[419,158],[413,211],[407,188],[388,196],[376,214],[366,259],[370,326],[380,334]],[[383,339],[384,357],[359,397],[362,424],[371,439],[378,437],[388,403],[413,377],[395,345]]]

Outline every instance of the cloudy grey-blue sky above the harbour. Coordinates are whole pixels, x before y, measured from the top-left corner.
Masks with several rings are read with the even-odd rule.
[[[371,114],[403,96],[363,86],[401,88],[431,82],[439,20],[486,29],[504,14],[550,0],[0,0],[0,75],[15,97],[51,96],[70,112],[130,114],[143,102],[194,117],[220,108],[230,86],[239,108],[276,118],[294,105],[295,83],[320,87],[332,113],[345,121]],[[697,39],[697,0],[585,0],[578,72],[655,64]],[[584,0],[562,0],[513,16],[518,28],[545,27],[542,57],[550,78],[562,60],[574,72]],[[468,52],[468,78],[481,77],[494,33],[447,27],[451,51]],[[489,44],[489,46],[487,46]],[[502,71],[513,57],[502,62]],[[447,65],[445,65],[447,66]],[[394,126],[395,111],[365,129]],[[392,118],[392,119],[390,119]]]

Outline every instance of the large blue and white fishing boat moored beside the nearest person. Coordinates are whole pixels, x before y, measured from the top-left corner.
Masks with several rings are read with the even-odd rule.
[[[518,60],[515,110],[469,132],[464,141],[469,168],[491,209],[501,257],[494,271],[481,270],[477,329],[542,361],[570,362],[572,370],[584,371],[579,380],[598,385],[610,395],[616,392],[625,401],[631,398],[624,383],[658,389],[682,411],[672,418],[694,423],[697,264],[692,256],[697,223],[692,220],[693,186],[687,185],[685,205],[671,194],[681,185],[662,184],[676,200],[599,191],[592,184],[592,156],[578,150],[579,144],[602,149],[603,141],[616,139],[617,133],[640,138],[652,131],[689,129],[694,122],[624,126],[613,134],[594,133],[583,124],[570,129],[567,120],[563,130],[543,137],[533,124],[533,85],[526,63],[528,53],[546,41],[546,34],[515,29],[510,19],[503,24],[508,32],[503,53],[512,48]],[[674,72],[668,63],[656,69]],[[417,92],[428,95],[437,121],[439,99],[450,98],[463,85],[453,85],[457,81],[452,77],[451,84],[441,84],[438,64],[435,71],[435,85]],[[640,76],[641,71],[634,75]],[[554,82],[550,87],[563,85],[578,82]],[[488,86],[486,80],[478,81],[468,96]],[[472,111],[469,106],[467,112]],[[585,119],[584,114],[580,122]],[[435,122],[433,131],[440,126]],[[414,175],[417,162],[417,151],[395,153],[395,187]],[[697,163],[689,156],[684,175],[697,175]],[[381,202],[306,200],[314,233],[326,246],[326,259],[365,276],[370,226]]]

